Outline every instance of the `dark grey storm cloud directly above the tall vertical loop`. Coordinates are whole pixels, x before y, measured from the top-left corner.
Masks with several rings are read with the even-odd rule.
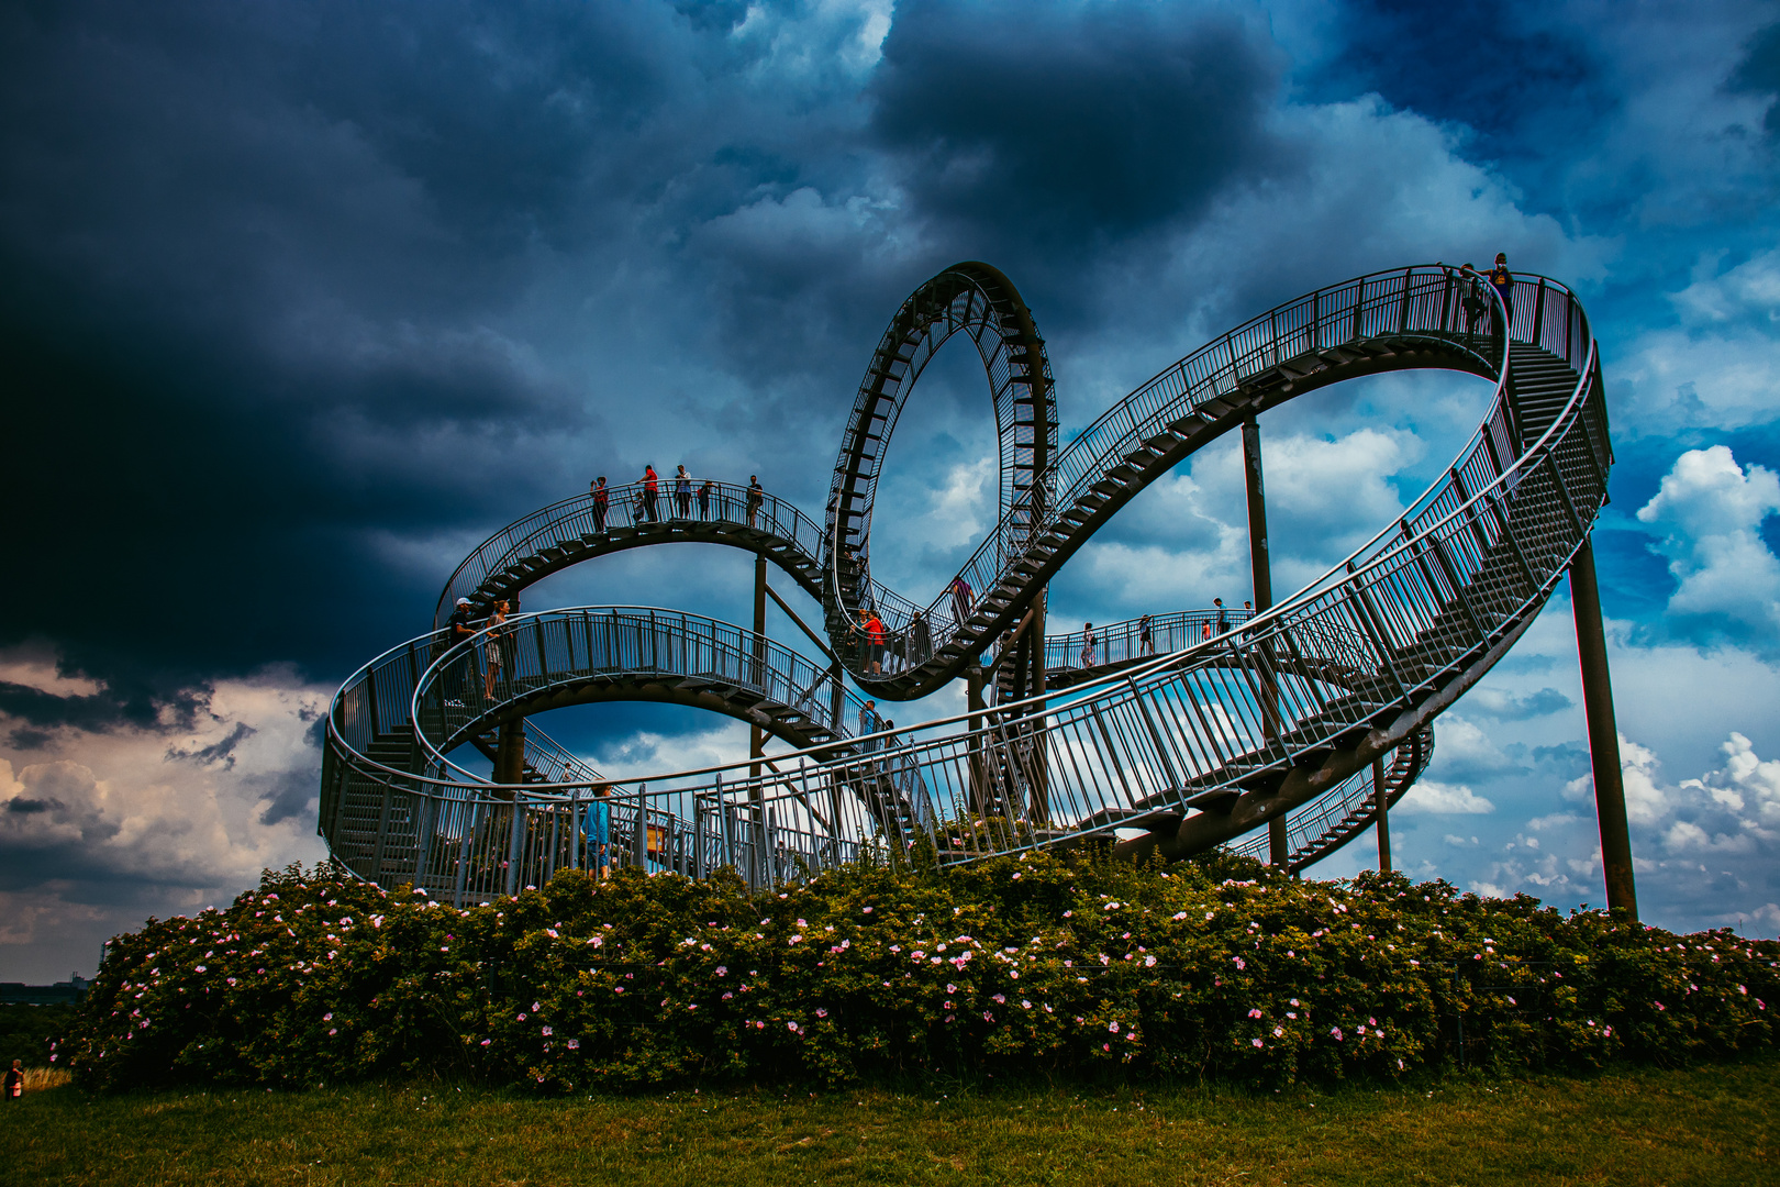
[[[1267,157],[1278,71],[1221,16],[917,2],[883,52],[872,130],[920,212],[1004,267],[1187,217]]]

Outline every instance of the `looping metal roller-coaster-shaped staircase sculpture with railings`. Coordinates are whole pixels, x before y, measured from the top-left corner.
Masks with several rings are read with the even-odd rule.
[[[1169,365],[1059,447],[1027,306],[988,265],[945,269],[872,356],[824,521],[737,486],[696,509],[671,495],[651,507],[630,486],[609,505],[580,495],[497,532],[445,585],[434,630],[335,698],[319,831],[361,877],[456,902],[587,867],[595,799],[621,860],[689,876],[728,865],[755,886],[901,861],[918,836],[942,861],[1061,844],[1180,860],[1232,844],[1310,865],[1408,790],[1435,715],[1515,644],[1572,562],[1593,573],[1613,452],[1588,319],[1547,278],[1515,276],[1508,303],[1483,288],[1481,315],[1470,278],[1440,265],[1321,288]],[[902,402],[958,333],[990,381],[1000,516],[958,578],[918,603],[872,578],[872,505]],[[1404,368],[1470,372],[1495,397],[1440,480],[1342,564],[1269,607],[1260,529],[1253,614],[1123,623],[1091,651],[1079,635],[1045,637],[1047,582],[1146,484],[1241,431],[1255,447],[1253,529],[1255,416]],[[657,607],[518,614],[456,644],[438,630],[459,596],[484,612],[566,566],[668,541],[753,552],[760,573],[776,564],[822,607],[826,641],[797,625],[826,664],[767,639],[758,609],[756,630]],[[881,635],[862,634],[870,616]],[[910,699],[959,676],[967,714],[851,728],[858,690]],[[523,724],[609,699],[728,714],[792,753],[605,779]],[[493,779],[452,762],[465,744],[495,760]]]

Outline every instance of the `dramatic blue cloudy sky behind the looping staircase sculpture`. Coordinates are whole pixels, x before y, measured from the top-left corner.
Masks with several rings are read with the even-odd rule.
[[[320,858],[331,690],[502,523],[646,461],[819,511],[885,322],[967,258],[1032,306],[1066,436],[1347,276],[1501,249],[1577,288],[1643,911],[1773,936],[1776,98],[1780,5],[1752,0],[7,5],[0,981]],[[1387,523],[1486,395],[1376,377],[1264,418],[1274,587]],[[1080,553],[1056,621],[1246,596],[1234,448]],[[993,466],[954,345],[874,571],[931,596]],[[628,553],[527,609],[744,621],[749,571]],[[1565,598],[1440,719],[1404,868],[1602,900]],[[746,746],[655,707],[546,728],[614,772]]]

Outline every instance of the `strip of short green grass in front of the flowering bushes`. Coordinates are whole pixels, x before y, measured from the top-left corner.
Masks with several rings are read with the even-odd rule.
[[[1251,1096],[452,1086],[0,1107],[9,1183],[1780,1183],[1780,1057],[1595,1078]]]

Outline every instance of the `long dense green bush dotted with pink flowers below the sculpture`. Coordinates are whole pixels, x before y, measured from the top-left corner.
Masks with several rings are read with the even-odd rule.
[[[1780,943],[1401,876],[1086,856],[853,868],[753,899],[566,872],[454,909],[328,872],[112,941],[61,1052],[98,1087],[465,1075],[1173,1075],[1278,1086],[1595,1068],[1775,1043]]]

